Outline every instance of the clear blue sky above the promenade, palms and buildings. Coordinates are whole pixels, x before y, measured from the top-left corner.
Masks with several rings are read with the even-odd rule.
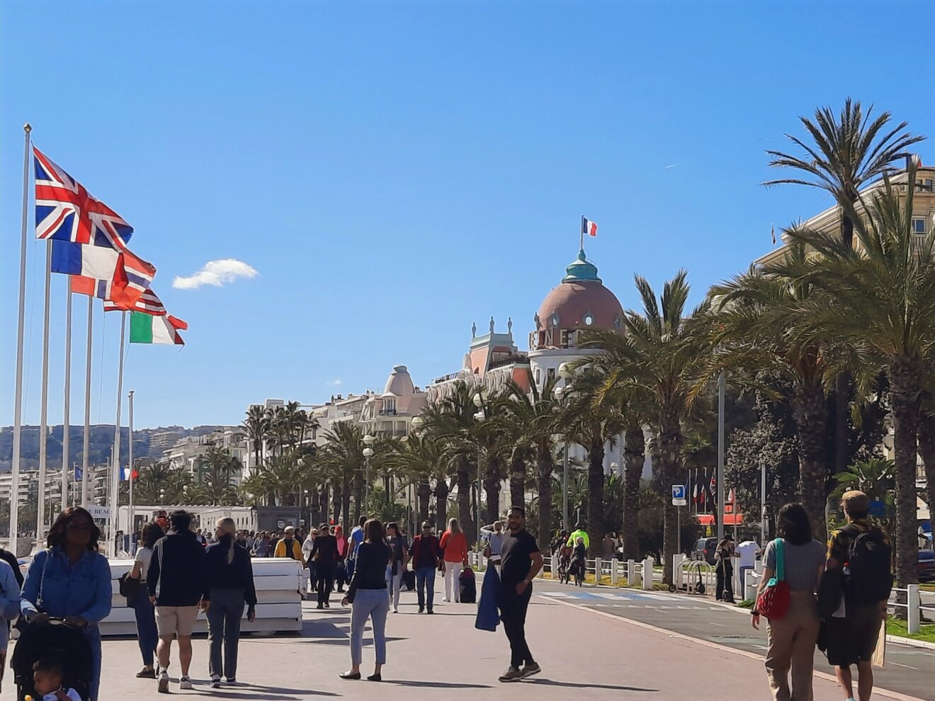
[[[853,95],[935,136],[919,52],[933,20],[924,2],[8,0],[0,423],[13,415],[23,122],[135,226],[153,289],[190,324],[184,350],[130,348],[137,426],[233,423],[266,397],[381,388],[398,363],[424,385],[459,368],[471,323],[492,315],[498,328],[512,317],[525,348],[582,214],[625,308],[634,272],[661,285],[686,267],[699,298],[770,250],[770,224],[828,206],[758,184],[773,175],[764,150],[801,134],[798,115]],[[33,423],[41,246],[30,240],[27,266]],[[258,275],[172,287],[226,258]],[[50,422],[64,285],[55,276]],[[119,321],[100,320],[92,420],[113,422]]]

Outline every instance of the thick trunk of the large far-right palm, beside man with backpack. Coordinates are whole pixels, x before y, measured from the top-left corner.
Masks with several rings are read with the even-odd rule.
[[[897,361],[890,365],[893,449],[896,453],[896,579],[899,587],[919,580],[915,535],[915,436],[921,384],[919,373],[909,363]]]

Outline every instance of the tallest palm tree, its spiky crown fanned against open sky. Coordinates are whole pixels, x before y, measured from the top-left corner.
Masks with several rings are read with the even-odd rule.
[[[912,136],[904,131],[907,122],[890,125],[891,115],[883,112],[876,119],[870,120],[873,106],[864,114],[860,102],[853,102],[850,97],[844,101],[840,118],[836,118],[830,107],[815,110],[814,122],[807,117],[799,117],[799,122],[808,131],[814,141],[807,145],[797,136],[786,135],[798,148],[804,151],[796,156],[779,150],[768,150],[772,157],[770,165],[781,168],[794,168],[803,175],[799,178],[784,178],[765,182],[764,185],[791,183],[807,185],[825,190],[839,202],[847,202],[854,207],[860,200],[860,191],[888,173],[891,165],[909,155],[908,149],[922,141],[925,136]],[[846,248],[854,245],[853,218],[841,207],[841,243]],[[850,401],[851,379],[842,373],[836,386],[835,418],[835,467],[837,471],[847,466],[847,408]]]

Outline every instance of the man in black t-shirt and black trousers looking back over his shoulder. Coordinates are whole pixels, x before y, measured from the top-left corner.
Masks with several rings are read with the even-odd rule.
[[[503,539],[500,559],[500,620],[510,640],[511,656],[510,668],[499,680],[519,681],[541,671],[526,645],[525,614],[532,596],[532,580],[542,568],[542,555],[536,538],[526,532],[525,510],[511,508],[507,527],[510,533]]]

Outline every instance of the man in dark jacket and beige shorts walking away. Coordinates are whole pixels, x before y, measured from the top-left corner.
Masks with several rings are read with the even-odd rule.
[[[208,593],[205,549],[189,529],[192,516],[187,511],[173,511],[169,515],[171,527],[165,537],[156,541],[152,549],[146,585],[150,601],[156,607],[156,629],[159,644],[158,690],[169,693],[169,655],[172,638],[179,638],[181,677],[179,688],[191,689],[188,669],[192,664],[192,631],[198,618],[198,606],[205,611],[209,602],[202,599]]]

